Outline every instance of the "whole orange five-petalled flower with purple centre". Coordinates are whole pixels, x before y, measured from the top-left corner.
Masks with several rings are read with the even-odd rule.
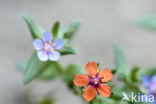
[[[97,91],[104,97],[110,97],[111,88],[104,83],[113,78],[111,70],[105,68],[99,72],[98,66],[95,62],[88,62],[85,69],[88,76],[77,74],[73,80],[75,86],[84,87],[88,85],[83,92],[83,98],[86,101],[91,101],[95,98]]]

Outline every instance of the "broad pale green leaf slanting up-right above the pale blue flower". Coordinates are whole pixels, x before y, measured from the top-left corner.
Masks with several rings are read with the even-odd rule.
[[[64,38],[66,41],[70,42],[74,33],[78,30],[80,26],[81,20],[75,20],[71,24],[65,26],[64,28],[60,29],[58,37]]]

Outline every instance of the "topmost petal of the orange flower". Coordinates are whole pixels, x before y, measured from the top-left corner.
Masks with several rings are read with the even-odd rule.
[[[88,62],[85,69],[89,76],[93,76],[97,74],[98,66],[95,62]]]

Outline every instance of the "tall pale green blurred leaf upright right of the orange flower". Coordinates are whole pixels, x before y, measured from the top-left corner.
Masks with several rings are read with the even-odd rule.
[[[126,77],[127,81],[130,81],[131,68],[125,60],[122,50],[117,45],[114,46],[114,50],[117,72],[123,74]]]

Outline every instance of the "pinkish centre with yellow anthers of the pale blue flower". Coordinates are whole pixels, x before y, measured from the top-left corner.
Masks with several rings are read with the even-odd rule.
[[[50,43],[44,43],[43,50],[45,52],[53,52],[55,50],[54,46],[55,46],[55,44],[52,43],[52,41],[50,41]]]

